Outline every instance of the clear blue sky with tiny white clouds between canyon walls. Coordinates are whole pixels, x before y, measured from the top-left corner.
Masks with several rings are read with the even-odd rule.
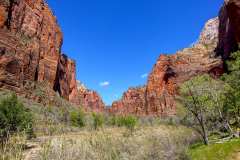
[[[145,84],[161,53],[198,39],[222,0],[47,0],[64,34],[77,79],[106,104]]]

